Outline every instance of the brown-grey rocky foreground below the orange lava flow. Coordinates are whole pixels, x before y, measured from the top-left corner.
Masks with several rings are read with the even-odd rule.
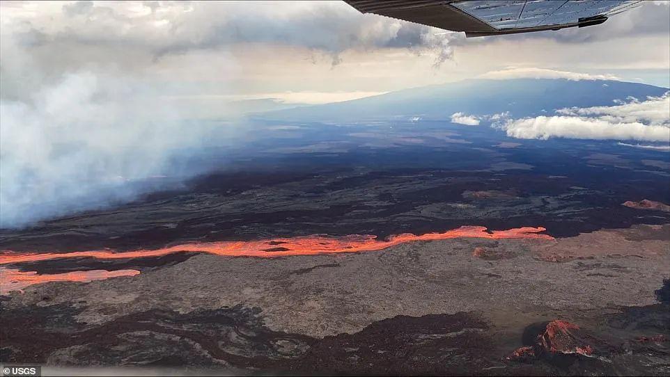
[[[1,304],[2,358],[299,374],[663,375],[668,229],[194,255],[133,277],[38,284]]]

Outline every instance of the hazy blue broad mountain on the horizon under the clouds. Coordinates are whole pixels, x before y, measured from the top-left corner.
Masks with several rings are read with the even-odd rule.
[[[668,88],[611,80],[474,79],[399,90],[352,101],[271,111],[265,119],[304,121],[449,120],[453,113],[513,117],[553,114],[564,107],[612,106],[614,100],[660,96]]]

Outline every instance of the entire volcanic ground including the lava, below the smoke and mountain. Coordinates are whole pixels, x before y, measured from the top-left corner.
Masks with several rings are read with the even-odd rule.
[[[435,132],[259,145],[236,171],[1,230],[0,360],[670,374],[670,173],[641,162],[667,156]]]

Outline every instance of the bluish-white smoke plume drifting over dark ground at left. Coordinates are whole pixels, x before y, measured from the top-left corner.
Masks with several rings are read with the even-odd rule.
[[[131,200],[143,179],[176,174],[171,159],[203,130],[118,77],[67,74],[29,101],[0,104],[0,223],[17,227]]]

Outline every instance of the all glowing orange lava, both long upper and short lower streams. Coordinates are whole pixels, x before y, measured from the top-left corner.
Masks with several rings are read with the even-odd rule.
[[[554,239],[544,232],[543,227],[520,227],[511,230],[496,230],[487,232],[485,227],[460,227],[443,233],[428,233],[416,236],[410,233],[391,236],[387,241],[380,241],[376,236],[304,236],[295,238],[272,239],[265,241],[221,241],[185,243],[155,250],[132,250],[114,252],[111,250],[87,250],[75,252],[12,252],[4,250],[0,253],[0,265],[20,264],[24,262],[38,262],[51,259],[83,258],[95,259],[132,259],[145,257],[160,257],[176,252],[205,252],[228,257],[286,257],[289,255],[320,255],[338,252],[374,251],[412,241],[435,241],[439,239],[455,239],[462,237],[482,239]],[[52,275],[38,275],[34,271],[22,272],[10,268],[0,268],[0,294],[8,291],[20,290],[32,284],[42,282],[90,282],[116,278],[119,276],[134,276],[137,270],[119,271],[75,271]]]

